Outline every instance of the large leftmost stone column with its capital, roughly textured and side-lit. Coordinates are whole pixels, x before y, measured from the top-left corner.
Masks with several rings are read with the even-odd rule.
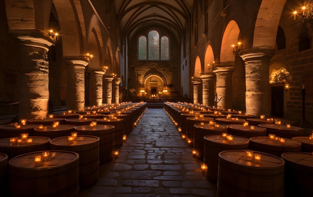
[[[47,117],[49,75],[47,52],[53,42],[42,32],[18,35],[19,118]]]

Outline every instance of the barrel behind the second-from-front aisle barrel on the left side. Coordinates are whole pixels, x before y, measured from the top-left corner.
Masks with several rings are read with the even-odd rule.
[[[51,125],[44,126],[42,129],[36,127],[33,129],[34,136],[45,136],[50,139],[56,137],[68,136],[71,132],[75,131],[75,125],[71,124],[60,124],[56,128],[53,128]]]

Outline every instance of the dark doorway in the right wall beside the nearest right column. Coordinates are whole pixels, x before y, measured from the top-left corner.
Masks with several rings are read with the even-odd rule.
[[[271,87],[271,111],[272,116],[283,117],[283,86]]]

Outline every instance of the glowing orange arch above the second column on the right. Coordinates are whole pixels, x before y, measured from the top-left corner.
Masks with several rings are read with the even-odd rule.
[[[238,41],[240,30],[237,23],[233,20],[229,21],[224,31],[223,38],[220,47],[220,62],[233,62],[233,48],[232,45],[236,45]],[[235,49],[234,49],[235,50]]]

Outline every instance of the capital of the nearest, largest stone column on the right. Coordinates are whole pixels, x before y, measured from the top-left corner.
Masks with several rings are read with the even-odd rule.
[[[273,57],[275,49],[268,47],[252,47],[239,52],[245,62],[268,61]]]

